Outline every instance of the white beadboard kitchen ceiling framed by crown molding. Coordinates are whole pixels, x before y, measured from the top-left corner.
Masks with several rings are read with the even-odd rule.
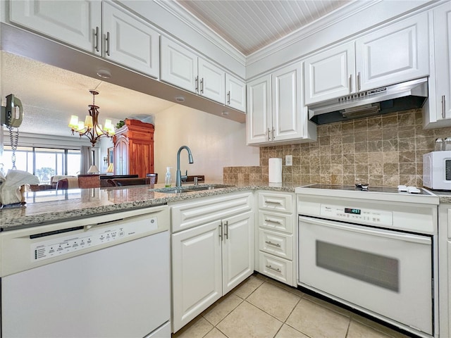
[[[350,0],[176,0],[245,56]]]

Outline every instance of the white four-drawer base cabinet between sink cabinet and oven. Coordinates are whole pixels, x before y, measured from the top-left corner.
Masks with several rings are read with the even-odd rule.
[[[257,192],[256,267],[259,273],[296,286],[295,198],[288,192]]]

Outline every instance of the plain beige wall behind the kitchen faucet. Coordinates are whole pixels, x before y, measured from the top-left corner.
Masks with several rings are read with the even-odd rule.
[[[173,106],[154,114],[154,163],[163,182],[166,167],[173,167],[175,182],[177,151],[189,146],[194,159],[188,164],[187,151],[180,153],[180,169],[188,175],[205,175],[207,181],[223,180],[226,165],[258,165],[259,149],[246,144],[244,123],[237,123],[185,106]]]

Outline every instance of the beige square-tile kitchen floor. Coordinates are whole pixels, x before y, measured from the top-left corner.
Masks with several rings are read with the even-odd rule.
[[[404,338],[404,334],[252,275],[197,316],[173,338]]]

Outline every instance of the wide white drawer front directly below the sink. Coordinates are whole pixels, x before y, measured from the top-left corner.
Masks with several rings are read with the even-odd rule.
[[[250,211],[253,205],[252,196],[252,192],[239,192],[171,204],[172,231],[178,232]]]

